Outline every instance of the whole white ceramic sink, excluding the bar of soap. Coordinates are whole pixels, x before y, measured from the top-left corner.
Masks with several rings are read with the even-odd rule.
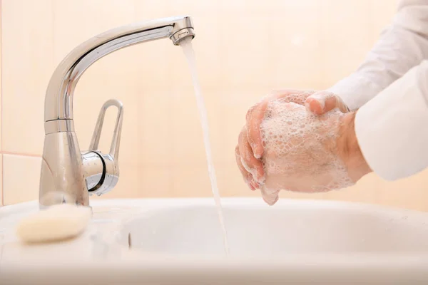
[[[91,204],[81,237],[33,246],[13,229],[37,203],[1,207],[0,284],[428,284],[425,212],[226,198],[226,256],[213,199]]]

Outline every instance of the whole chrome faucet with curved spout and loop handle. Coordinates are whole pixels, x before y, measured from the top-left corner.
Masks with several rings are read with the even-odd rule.
[[[73,93],[86,68],[99,58],[126,46],[170,38],[179,45],[193,38],[193,24],[188,16],[131,24],[94,36],[68,53],[49,81],[45,98],[45,139],[39,204],[73,203],[89,205],[89,195],[102,195],[115,187],[119,178],[118,152],[121,140],[123,106],[108,100],[101,108],[89,150],[81,152],[73,121]],[[106,109],[118,108],[110,153],[98,150]]]

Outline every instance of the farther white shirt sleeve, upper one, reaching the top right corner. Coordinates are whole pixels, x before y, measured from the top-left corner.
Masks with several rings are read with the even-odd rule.
[[[355,110],[428,58],[428,0],[405,0],[365,61],[329,91]]]

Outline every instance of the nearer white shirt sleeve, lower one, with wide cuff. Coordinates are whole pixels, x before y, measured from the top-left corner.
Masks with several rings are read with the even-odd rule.
[[[428,167],[428,61],[382,90],[355,115],[362,155],[385,180]]]

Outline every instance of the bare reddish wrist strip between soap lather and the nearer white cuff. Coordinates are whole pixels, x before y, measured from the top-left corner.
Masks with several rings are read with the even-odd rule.
[[[357,135],[355,134],[355,115],[356,112],[350,112],[342,117],[339,128],[340,136],[337,140],[339,155],[345,162],[347,172],[354,182],[372,172],[362,155]]]

